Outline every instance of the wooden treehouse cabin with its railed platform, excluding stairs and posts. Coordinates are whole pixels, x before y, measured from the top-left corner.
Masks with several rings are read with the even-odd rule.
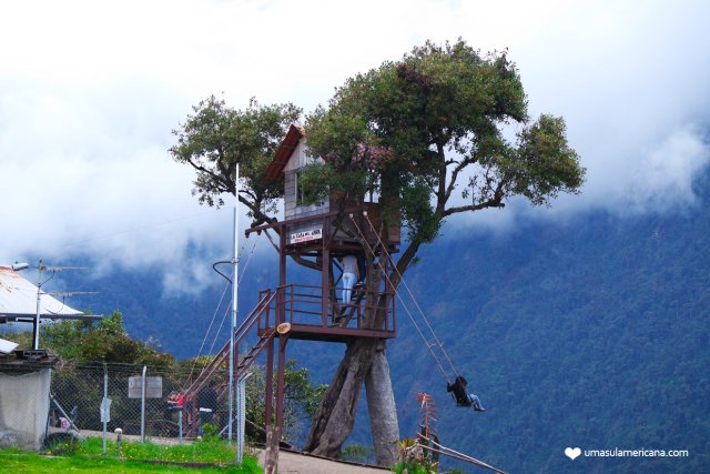
[[[274,244],[280,256],[275,306],[258,332],[288,323],[291,339],[344,342],[354,336],[394,337],[394,292],[387,280],[390,265],[382,251],[383,245],[387,253],[397,251],[399,224],[383,232],[378,203],[362,199],[343,205],[337,191],[322,203],[302,203],[300,173],[314,163],[322,160],[308,154],[302,130],[292,125],[264,175],[264,180],[284,185],[284,220],[246,232],[278,236],[277,248]],[[339,262],[345,255],[357,255],[361,276],[375,270],[381,274],[377,281],[371,278],[367,285],[354,291],[352,301],[342,300]],[[293,281],[286,271],[290,260],[317,269],[320,282]],[[367,322],[366,316],[375,313],[379,314],[377,322]]]

